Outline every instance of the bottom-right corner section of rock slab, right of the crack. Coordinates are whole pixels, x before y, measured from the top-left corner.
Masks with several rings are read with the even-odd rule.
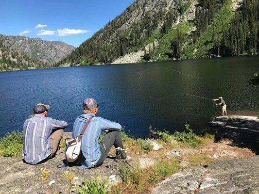
[[[213,162],[199,194],[258,194],[259,156]]]

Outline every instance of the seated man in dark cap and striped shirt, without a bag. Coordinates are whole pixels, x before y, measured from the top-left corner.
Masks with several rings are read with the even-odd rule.
[[[66,121],[47,117],[50,106],[37,104],[34,117],[27,119],[23,125],[22,159],[28,164],[45,162],[55,156],[63,137]]]

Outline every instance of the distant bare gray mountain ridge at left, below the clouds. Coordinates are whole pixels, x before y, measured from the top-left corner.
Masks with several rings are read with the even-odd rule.
[[[41,38],[0,35],[1,43],[9,49],[19,50],[37,60],[54,64],[75,48],[60,41],[46,41]]]

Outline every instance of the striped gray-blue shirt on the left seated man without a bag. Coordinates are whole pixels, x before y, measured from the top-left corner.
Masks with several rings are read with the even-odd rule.
[[[23,160],[29,164],[36,164],[50,156],[52,153],[50,142],[52,129],[67,126],[66,121],[58,121],[39,114],[27,119],[23,125]]]

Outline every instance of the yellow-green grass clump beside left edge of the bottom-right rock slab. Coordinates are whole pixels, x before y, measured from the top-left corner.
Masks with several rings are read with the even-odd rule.
[[[159,161],[154,165],[154,173],[158,176],[172,175],[178,171],[181,166],[178,165],[178,161],[175,158],[171,158],[166,161]]]

